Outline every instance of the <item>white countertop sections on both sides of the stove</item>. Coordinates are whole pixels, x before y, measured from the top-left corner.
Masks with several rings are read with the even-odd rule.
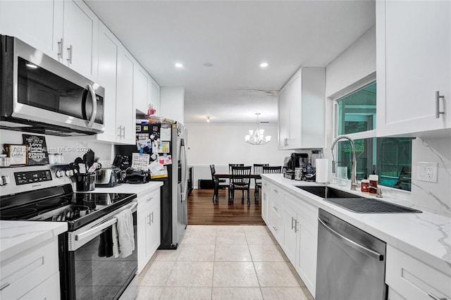
[[[97,187],[93,193],[130,193],[140,194],[163,185],[161,181],[151,181],[144,184],[123,184],[116,187]],[[0,259],[4,261],[21,251],[36,246],[39,243],[57,237],[68,230],[65,222],[38,221],[0,221]]]

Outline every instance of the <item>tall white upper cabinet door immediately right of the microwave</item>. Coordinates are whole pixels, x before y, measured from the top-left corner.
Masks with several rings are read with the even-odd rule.
[[[99,23],[99,85],[105,88],[104,120],[105,132],[97,135],[97,139],[116,142],[116,78],[118,63],[118,47],[121,43]]]

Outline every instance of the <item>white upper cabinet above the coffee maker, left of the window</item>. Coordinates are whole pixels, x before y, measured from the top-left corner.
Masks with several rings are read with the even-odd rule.
[[[279,149],[323,148],[326,72],[301,68],[281,89]]]

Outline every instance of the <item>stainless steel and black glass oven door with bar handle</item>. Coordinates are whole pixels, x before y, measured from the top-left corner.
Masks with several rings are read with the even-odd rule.
[[[136,296],[137,286],[131,287],[136,284],[137,273],[136,206],[136,202],[128,206],[132,208],[135,250],[126,258],[115,258],[109,245],[112,225],[117,222],[114,213],[100,223],[69,233],[67,246],[75,249],[66,251],[66,270],[61,271],[66,273],[61,275],[66,283],[61,299],[119,299],[125,289],[135,289]]]

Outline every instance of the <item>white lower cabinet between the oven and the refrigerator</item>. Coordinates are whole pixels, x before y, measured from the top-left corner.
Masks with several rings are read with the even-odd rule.
[[[160,189],[153,189],[138,196],[138,274],[147,265],[161,241]]]

